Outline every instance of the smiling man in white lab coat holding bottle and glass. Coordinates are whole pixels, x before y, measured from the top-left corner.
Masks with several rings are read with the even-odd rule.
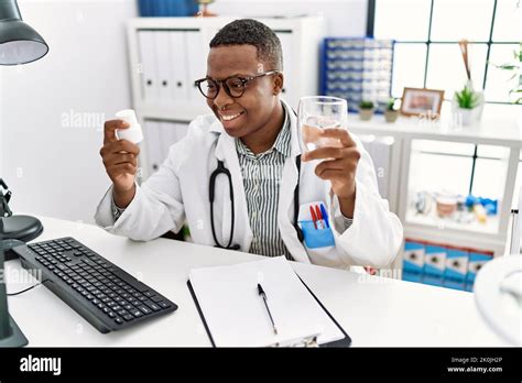
[[[221,29],[210,42],[207,76],[196,81],[214,114],[194,120],[141,186],[139,147],[115,135],[126,124],[105,123],[100,154],[112,186],[98,225],[148,241],[186,221],[200,244],[341,269],[389,264],[402,226],[379,195],[370,156],[345,129],[323,134],[342,147],[305,153],[295,113],[279,98],[283,81],[273,31],[254,20]],[[320,204],[329,228],[297,225]]]

